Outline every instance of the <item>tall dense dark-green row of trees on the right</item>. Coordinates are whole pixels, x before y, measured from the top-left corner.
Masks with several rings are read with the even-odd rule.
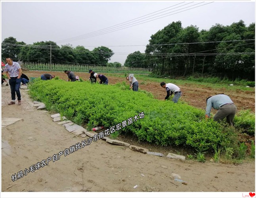
[[[128,55],[124,66],[151,68],[159,75],[206,74],[254,81],[255,23],[246,27],[240,20],[199,31],[197,26],[183,28],[181,21],[172,22],[151,36],[145,53]]]

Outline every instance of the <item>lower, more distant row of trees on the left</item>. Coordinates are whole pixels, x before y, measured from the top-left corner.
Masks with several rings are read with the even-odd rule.
[[[111,67],[121,67],[118,62],[108,63],[113,56],[113,51],[107,47],[101,46],[92,51],[84,46],[71,45],[57,46],[52,41],[36,42],[32,45],[26,45],[25,42],[18,42],[16,38],[9,37],[2,42],[2,58],[12,57],[14,60],[32,63],[78,63],[88,65],[101,65]]]

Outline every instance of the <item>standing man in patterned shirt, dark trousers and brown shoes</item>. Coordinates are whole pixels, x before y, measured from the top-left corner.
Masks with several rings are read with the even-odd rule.
[[[21,66],[17,62],[13,62],[10,57],[6,58],[7,64],[5,65],[4,71],[6,72],[6,76],[9,79],[9,84],[11,88],[11,102],[8,105],[15,104],[15,92],[18,98],[18,105],[21,105],[21,92],[19,91],[19,87],[21,86]]]

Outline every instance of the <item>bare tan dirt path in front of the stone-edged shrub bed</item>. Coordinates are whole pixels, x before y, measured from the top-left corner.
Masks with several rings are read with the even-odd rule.
[[[81,143],[52,121],[49,112],[36,110],[27,91],[22,105],[8,106],[9,86],[2,87],[2,118],[22,118],[2,128],[3,192],[254,192],[255,163],[238,166],[179,161],[134,152],[128,147],[92,142],[47,166],[11,181],[11,176]],[[187,185],[174,181],[172,173]],[[143,175],[141,175],[143,174]],[[134,188],[134,186],[138,187]]]

